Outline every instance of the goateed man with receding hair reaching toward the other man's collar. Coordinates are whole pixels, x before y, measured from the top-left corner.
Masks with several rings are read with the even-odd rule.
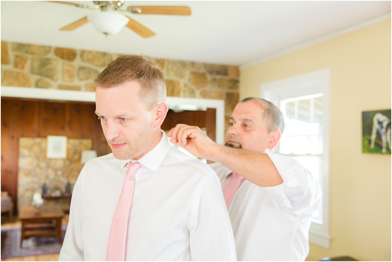
[[[241,100],[225,146],[197,126],[179,124],[171,142],[215,161],[234,233],[238,261],[299,261],[309,254],[309,228],[321,202],[315,177],[291,157],[272,154],[284,128],[279,108],[261,98]]]

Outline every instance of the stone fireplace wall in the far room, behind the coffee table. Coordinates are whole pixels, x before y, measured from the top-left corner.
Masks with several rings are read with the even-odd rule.
[[[42,193],[44,183],[52,192],[65,192],[68,182],[73,186],[84,165],[80,163],[82,150],[91,150],[91,146],[91,139],[69,138],[66,159],[47,159],[46,137],[20,137],[18,207],[30,205],[33,194]]]

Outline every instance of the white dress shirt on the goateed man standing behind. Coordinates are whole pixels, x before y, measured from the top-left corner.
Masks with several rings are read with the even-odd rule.
[[[260,187],[241,183],[229,206],[238,261],[298,261],[309,253],[309,227],[321,190],[309,171],[291,157],[267,153],[284,182]],[[222,187],[232,170],[210,165]]]

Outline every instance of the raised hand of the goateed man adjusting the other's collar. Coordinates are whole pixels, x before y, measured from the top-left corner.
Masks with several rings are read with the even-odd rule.
[[[181,146],[198,158],[209,159],[210,150],[216,145],[198,126],[178,124],[167,136],[171,137],[171,143]]]

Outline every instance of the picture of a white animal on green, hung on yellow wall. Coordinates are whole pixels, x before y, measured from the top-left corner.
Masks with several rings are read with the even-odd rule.
[[[391,154],[391,110],[362,112],[362,152]]]

